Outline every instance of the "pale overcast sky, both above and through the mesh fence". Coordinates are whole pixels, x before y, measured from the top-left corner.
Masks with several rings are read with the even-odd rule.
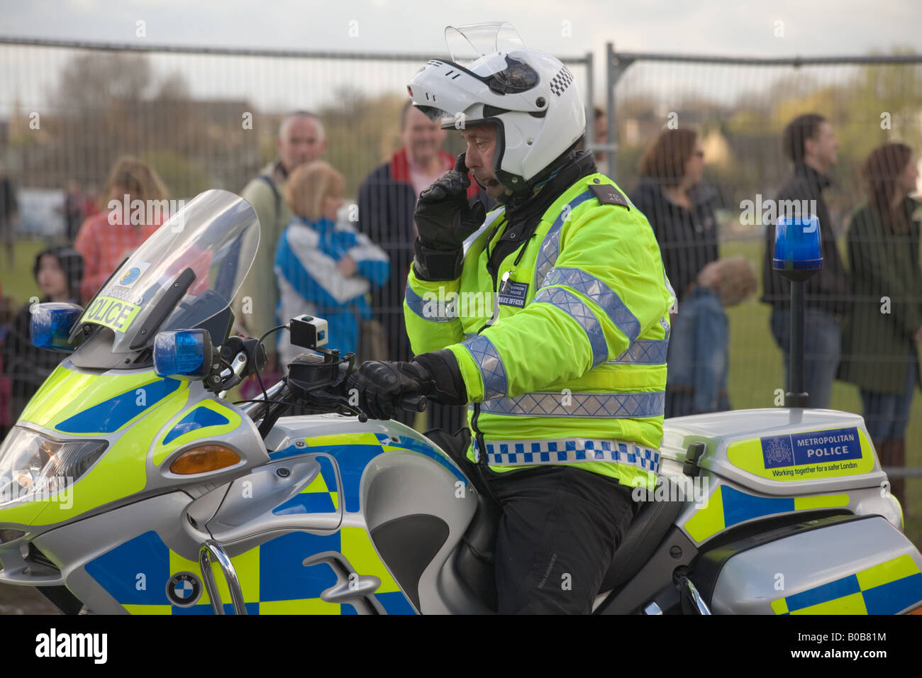
[[[192,48],[431,56],[446,54],[445,26],[483,21],[509,21],[526,46],[560,57],[592,52],[593,90],[603,106],[606,42],[622,52],[729,56],[865,55],[894,46],[922,52],[922,0],[0,0],[3,37]],[[0,117],[15,104],[27,112],[48,110],[49,92],[73,54],[0,45]],[[402,93],[417,67],[190,54],[155,54],[151,64],[158,81],[176,73],[197,99],[247,99],[262,110],[320,108],[341,86],[369,95]],[[585,70],[572,68],[585,97]],[[786,73],[646,68],[632,66],[621,90],[653,87],[665,92],[657,96],[667,108],[680,105],[670,97],[690,88],[732,101]],[[848,71],[812,73],[841,78]]]

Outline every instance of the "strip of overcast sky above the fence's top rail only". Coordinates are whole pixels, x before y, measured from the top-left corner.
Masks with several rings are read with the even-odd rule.
[[[3,36],[196,46],[442,53],[446,25],[496,20],[561,56],[601,58],[608,41],[753,56],[922,48],[918,0],[0,0]]]

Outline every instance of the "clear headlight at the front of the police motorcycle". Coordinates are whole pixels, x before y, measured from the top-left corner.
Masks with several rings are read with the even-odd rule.
[[[0,446],[0,506],[64,490],[108,445],[104,440],[54,440],[14,426]]]

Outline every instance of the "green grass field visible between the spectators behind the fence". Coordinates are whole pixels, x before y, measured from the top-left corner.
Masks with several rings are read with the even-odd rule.
[[[3,270],[0,285],[4,294],[26,303],[38,294],[32,279],[32,261],[44,247],[41,243],[20,242],[17,245],[16,265],[13,270]],[[721,246],[722,256],[746,256],[756,271],[762,270],[762,242],[731,242]],[[760,276],[761,280],[761,276]],[[756,301],[761,290],[749,301],[727,310],[730,321],[730,402],[738,410],[774,406],[774,391],[784,388],[784,367],[781,351],[777,348],[769,329],[770,309]],[[857,387],[835,382],[833,387],[834,410],[861,413]],[[922,466],[922,398],[913,401],[912,417],[906,436],[906,465]],[[922,477],[906,479],[906,496],[909,506],[904,506],[905,532],[916,545],[922,545]],[[908,510],[907,510],[908,509]],[[915,514],[915,515],[913,515]]]

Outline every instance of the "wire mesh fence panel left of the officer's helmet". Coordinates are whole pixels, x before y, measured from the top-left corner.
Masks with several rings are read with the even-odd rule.
[[[401,146],[407,83],[433,56],[443,58],[0,39],[0,161],[18,197],[16,255],[4,257],[0,275],[7,318],[41,296],[32,278],[41,247],[72,239],[87,213],[106,209],[107,177],[125,154],[146,161],[173,200],[209,188],[239,194],[278,157],[285,114],[306,110],[323,121],[325,160],[344,175],[347,208],[358,207],[363,180]],[[591,55],[561,60],[591,102]],[[460,136],[449,132],[443,150],[462,149]],[[412,223],[392,222],[412,214],[412,202],[403,204],[415,200],[409,193],[384,195],[376,213],[365,215],[374,217],[370,234],[396,268],[407,268],[412,256],[412,237],[404,237]],[[266,241],[265,225],[263,232]],[[276,243],[264,246],[274,252]],[[12,254],[12,241],[9,247]],[[372,298],[375,315],[393,321],[386,327],[402,326],[406,273],[392,276]],[[274,279],[271,259],[254,266],[254,276]],[[246,329],[258,334],[274,324]],[[400,339],[388,339],[397,357]]]

